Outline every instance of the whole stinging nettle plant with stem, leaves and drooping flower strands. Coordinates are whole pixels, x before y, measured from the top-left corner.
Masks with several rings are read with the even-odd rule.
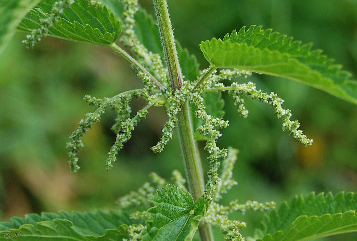
[[[33,7],[33,8],[32,8]],[[32,9],[31,9],[32,8]],[[222,119],[221,93],[232,96],[238,114],[247,117],[243,98],[252,98],[271,105],[282,129],[302,145],[312,139],[299,130],[298,121],[291,121],[290,110],[282,107],[284,100],[275,93],[257,90],[254,83],[232,82],[237,76],[248,78],[252,73],[285,77],[326,91],[357,104],[357,82],[340,65],[311,50],[292,37],[262,30],[261,26],[242,27],[226,34],[223,39],[201,42],[200,48],[210,67],[198,70],[193,55],[175,43],[169,11],[165,0],[154,0],[156,19],[149,16],[137,0],[23,0],[5,1],[0,22],[1,48],[17,30],[27,32],[22,42],[34,47],[44,36],[109,46],[124,56],[137,70],[144,88],[120,93],[111,98],[97,99],[86,95],[84,100],[97,106],[94,112],[80,120],[67,143],[69,165],[77,172],[77,154],[83,146],[81,138],[100,121],[106,109],[115,110],[117,118],[112,130],[117,134],[105,161],[107,170],[115,165],[117,152],[122,149],[140,120],[152,107],[165,107],[169,120],[162,137],[152,147],[154,153],[164,150],[177,130],[186,178],[173,171],[174,185],[155,173],[136,192],[121,197],[114,211],[60,212],[29,214],[25,219],[11,218],[0,223],[0,239],[9,240],[142,240],[189,241],[196,230],[202,241],[213,241],[211,226],[219,227],[225,240],[306,241],[318,237],[357,231],[357,194],[310,194],[295,197],[278,210],[274,202],[233,200],[220,204],[222,194],[237,182],[232,179],[238,151],[216,145],[220,129],[229,126]],[[27,9],[31,9],[27,12]],[[158,26],[158,27],[157,27]],[[119,45],[118,45],[119,44]],[[129,50],[130,54],[124,49]],[[1,51],[1,49],[0,49]],[[231,81],[224,85],[223,81]],[[131,117],[130,102],[142,97],[146,106]],[[211,112],[206,111],[210,110]],[[209,156],[208,181],[204,182],[197,140],[206,141]],[[218,168],[221,174],[218,175]],[[187,187],[186,187],[187,182]],[[243,237],[243,221],[230,220],[232,212],[267,211],[261,226],[252,237]]]

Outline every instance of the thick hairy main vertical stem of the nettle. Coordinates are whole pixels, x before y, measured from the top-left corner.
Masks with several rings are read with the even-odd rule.
[[[182,74],[177,57],[174,32],[171,27],[169,9],[167,8],[166,0],[153,1],[171,87],[176,91],[181,88]],[[188,187],[193,199],[197,200],[203,194],[205,184],[200,152],[197,149],[197,143],[193,137],[191,113],[187,100],[181,103],[181,111],[178,112],[177,119],[177,129],[180,137]],[[210,225],[200,225],[198,230],[202,241],[213,241],[212,228]]]

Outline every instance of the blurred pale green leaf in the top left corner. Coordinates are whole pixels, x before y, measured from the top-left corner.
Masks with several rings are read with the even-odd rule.
[[[29,9],[41,0],[2,0],[0,1],[0,54],[14,36],[16,27]]]

